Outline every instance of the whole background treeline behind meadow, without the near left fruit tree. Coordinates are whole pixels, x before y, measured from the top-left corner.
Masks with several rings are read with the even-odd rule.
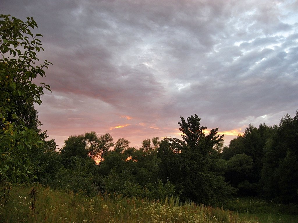
[[[174,195],[206,205],[232,196],[298,201],[298,110],[279,125],[249,125],[225,147],[218,129],[205,134],[197,115],[181,117],[179,125],[182,139],[145,139],[139,149],[95,132],[70,136],[59,152],[51,141],[32,150],[32,172],[44,185],[90,195]]]

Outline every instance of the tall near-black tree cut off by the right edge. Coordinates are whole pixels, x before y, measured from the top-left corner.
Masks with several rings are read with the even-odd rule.
[[[298,110],[285,115],[274,126],[274,134],[264,147],[263,193],[279,202],[298,201]]]

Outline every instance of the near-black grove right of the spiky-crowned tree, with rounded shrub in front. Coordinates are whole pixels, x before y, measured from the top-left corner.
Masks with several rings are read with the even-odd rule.
[[[241,196],[298,201],[298,110],[279,125],[249,125],[224,147],[225,178]]]

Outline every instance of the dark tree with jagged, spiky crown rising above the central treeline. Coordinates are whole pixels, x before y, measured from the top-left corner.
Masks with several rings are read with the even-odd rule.
[[[200,125],[200,120],[196,114],[187,118],[187,122],[181,117],[178,124],[183,140],[165,139],[160,144],[159,157],[165,162],[162,167],[170,173],[169,180],[176,175],[177,180],[172,182],[180,191],[182,199],[216,204],[229,197],[233,188],[224,181],[223,176],[212,170],[214,154],[218,153],[215,145],[223,141],[223,136],[217,136],[218,128],[206,135],[206,127]],[[174,167],[175,172],[171,173],[171,167]]]

